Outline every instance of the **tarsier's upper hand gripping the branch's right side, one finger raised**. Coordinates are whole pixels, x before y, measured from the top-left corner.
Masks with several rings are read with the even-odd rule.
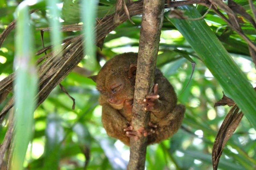
[[[154,111],[155,109],[157,109],[157,107],[159,107],[159,104],[161,101],[158,100],[160,96],[157,93],[158,93],[158,84],[155,84],[153,88],[153,93],[147,95],[146,99],[143,100],[143,103],[147,104],[144,107],[144,110]]]

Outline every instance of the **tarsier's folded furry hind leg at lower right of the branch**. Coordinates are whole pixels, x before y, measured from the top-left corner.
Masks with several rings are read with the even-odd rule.
[[[158,124],[155,133],[148,137],[148,144],[158,143],[172,137],[180,128],[184,118],[185,106],[177,105],[172,113],[167,114]]]

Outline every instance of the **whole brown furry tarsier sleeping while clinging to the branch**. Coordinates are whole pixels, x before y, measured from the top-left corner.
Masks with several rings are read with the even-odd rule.
[[[130,138],[148,136],[148,143],[168,139],[179,129],[185,106],[177,105],[177,96],[169,81],[156,68],[153,92],[141,101],[144,110],[150,111],[148,128],[134,130],[132,103],[136,76],[137,53],[116,55],[102,67],[98,75],[91,76],[100,91],[102,124],[110,137],[129,145]]]

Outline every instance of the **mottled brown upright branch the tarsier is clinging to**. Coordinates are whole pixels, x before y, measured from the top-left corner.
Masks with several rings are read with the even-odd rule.
[[[135,130],[148,127],[149,112],[144,111],[140,101],[152,91],[155,78],[156,57],[163,24],[164,0],[144,0],[140,29],[140,45],[132,108],[132,126]],[[147,137],[130,140],[128,169],[145,169]]]

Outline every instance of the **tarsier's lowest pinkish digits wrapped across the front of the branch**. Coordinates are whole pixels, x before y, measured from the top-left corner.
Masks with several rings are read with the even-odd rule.
[[[133,127],[131,125],[131,126],[124,129],[125,135],[127,137],[134,137],[134,139],[137,141],[137,140],[139,140],[139,137],[141,137],[142,135],[144,137],[147,137],[148,135],[151,135],[151,134],[155,133],[154,129],[157,126],[154,125],[152,122],[148,122],[148,126],[149,126],[148,129],[145,129],[145,128],[141,127],[138,130],[133,130]]]

